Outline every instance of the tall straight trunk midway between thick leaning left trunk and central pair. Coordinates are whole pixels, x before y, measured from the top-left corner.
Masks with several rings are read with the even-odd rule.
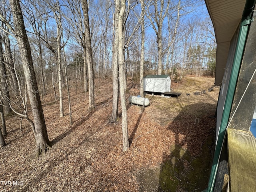
[[[92,63],[92,45],[90,36],[90,25],[88,15],[87,0],[82,1],[82,10],[84,12],[84,36],[86,44],[86,63],[88,66],[88,79],[89,79],[89,110],[94,108],[94,71]]]

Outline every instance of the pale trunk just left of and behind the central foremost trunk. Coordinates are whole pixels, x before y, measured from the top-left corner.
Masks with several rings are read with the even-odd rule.
[[[112,114],[109,122],[115,123],[118,118],[118,14],[120,12],[120,3],[116,2],[114,22],[113,22],[113,55],[112,55],[112,81],[113,81],[113,101],[112,101]]]

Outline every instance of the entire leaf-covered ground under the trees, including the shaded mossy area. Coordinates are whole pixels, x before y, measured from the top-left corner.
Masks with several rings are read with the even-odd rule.
[[[178,100],[146,95],[150,106],[142,112],[140,106],[128,103],[130,95],[139,94],[137,79],[128,79],[128,152],[122,152],[122,121],[108,124],[111,79],[96,85],[96,107],[91,112],[87,110],[88,93],[80,85],[71,87],[72,126],[66,92],[65,116],[60,118],[58,101],[49,88],[42,104],[52,149],[35,158],[29,124],[17,116],[6,117],[0,191],[202,191],[211,166],[212,116],[219,88],[196,96],[193,93],[213,84],[213,78],[186,77],[181,83],[172,83],[173,91],[182,93]]]

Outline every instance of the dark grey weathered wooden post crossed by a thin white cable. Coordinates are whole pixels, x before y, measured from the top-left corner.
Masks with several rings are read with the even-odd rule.
[[[256,13],[254,12],[254,16]],[[256,22],[252,22],[237,80],[230,128],[249,131],[256,106]],[[256,191],[256,190],[255,190]]]

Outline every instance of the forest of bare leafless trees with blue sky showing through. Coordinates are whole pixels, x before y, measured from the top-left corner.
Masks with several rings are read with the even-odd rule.
[[[4,114],[15,113],[30,122],[36,154],[46,152],[51,143],[41,101],[47,93],[54,92],[63,117],[62,90],[69,95],[75,83],[89,92],[85,110],[92,111],[97,78],[112,78],[109,123],[121,118],[120,103],[128,150],[128,76],[140,78],[141,95],[146,74],[169,74],[176,82],[214,76],[216,41],[203,6],[202,0],[1,0],[0,145],[8,132]],[[69,97],[70,124],[71,108]]]

